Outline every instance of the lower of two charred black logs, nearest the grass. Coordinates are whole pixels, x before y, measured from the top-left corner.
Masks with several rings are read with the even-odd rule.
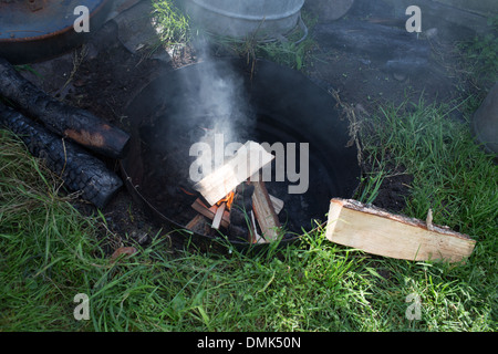
[[[46,167],[63,179],[69,190],[81,191],[83,199],[98,208],[103,208],[123,185],[98,158],[2,103],[0,125],[17,134],[33,156],[42,158]]]

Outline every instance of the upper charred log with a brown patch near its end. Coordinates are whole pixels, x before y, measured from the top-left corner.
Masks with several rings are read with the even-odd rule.
[[[52,133],[112,158],[121,158],[125,154],[129,140],[127,133],[85,110],[65,105],[49,96],[2,58],[0,95],[19,105],[27,115],[43,122]]]

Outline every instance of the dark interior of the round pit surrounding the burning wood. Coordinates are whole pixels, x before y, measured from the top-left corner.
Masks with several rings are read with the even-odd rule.
[[[212,85],[217,77],[235,77],[240,88],[234,96],[238,101],[232,102],[236,108],[229,114],[231,136],[226,135],[225,143],[243,144],[251,139],[286,147],[294,143],[298,175],[303,167],[299,164],[301,144],[309,144],[309,183],[304,194],[288,192],[289,185],[303,181],[290,181],[288,176],[284,181],[276,181],[277,159],[272,163],[271,181],[266,183],[269,194],[284,201],[279,214],[287,231],[284,240],[317,227],[313,220],[325,221],[330,199],[352,197],[359,184],[356,148],[346,147],[349,124],[340,118],[329,93],[302,74],[264,61],[258,61],[255,67],[239,60],[201,62],[147,85],[126,110],[132,140],[122,168],[128,189],[156,219],[175,228],[185,227],[197,215],[190,207],[200,195],[189,179],[189,166],[196,159],[189,156],[189,148],[218,126],[214,114],[217,108],[211,106],[217,96],[206,101],[199,88],[209,87],[209,80],[203,77],[212,70]],[[287,153],[286,148],[286,157]],[[197,236],[212,238],[216,232]]]

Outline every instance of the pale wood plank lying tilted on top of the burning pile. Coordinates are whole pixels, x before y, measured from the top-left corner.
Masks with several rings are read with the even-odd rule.
[[[212,206],[273,158],[261,145],[249,140],[224,166],[197,183],[194,189]]]

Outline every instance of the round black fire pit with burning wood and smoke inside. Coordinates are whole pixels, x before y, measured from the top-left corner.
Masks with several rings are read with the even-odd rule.
[[[222,237],[248,247],[259,242],[256,235],[267,244],[261,210],[269,210],[264,218],[273,216],[278,239],[292,242],[325,221],[331,198],[350,198],[359,184],[357,152],[346,147],[349,123],[334,100],[271,62],[219,60],[178,69],[137,94],[126,115],[132,138],[121,166],[128,190],[156,220],[198,240]],[[273,156],[227,187],[234,194],[208,201],[199,184],[211,178],[225,186],[229,178],[220,170],[239,162],[249,143]],[[260,181],[251,181],[256,176]],[[230,231],[236,217],[227,202],[237,196],[252,200],[239,202],[247,209],[237,229],[247,227],[247,237]]]

